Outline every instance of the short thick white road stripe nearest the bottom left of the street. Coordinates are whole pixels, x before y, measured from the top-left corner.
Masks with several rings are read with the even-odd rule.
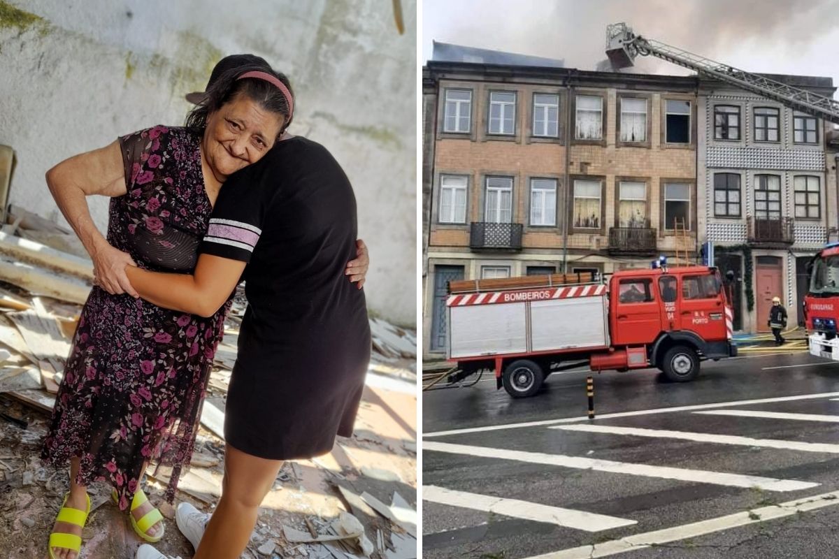
[[[513,516],[524,520],[548,522],[586,532],[599,532],[638,524],[638,520],[597,515],[583,510],[539,505],[539,503],[531,503],[519,499],[502,499],[501,497],[492,497],[490,495],[454,491],[452,489],[436,487],[435,485],[423,485],[422,498],[423,500],[439,503],[440,505],[459,506],[465,509],[482,510],[483,512]]]

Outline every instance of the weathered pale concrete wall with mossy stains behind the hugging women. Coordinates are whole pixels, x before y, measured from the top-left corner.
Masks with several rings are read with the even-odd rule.
[[[0,0],[0,143],[17,155],[10,201],[61,220],[53,164],[164,123],[226,54],[263,56],[292,80],[290,132],[330,148],[358,200],[374,313],[413,324],[416,301],[416,3],[405,34],[378,0]],[[29,14],[29,15],[28,15]],[[91,201],[97,225],[107,200]]]

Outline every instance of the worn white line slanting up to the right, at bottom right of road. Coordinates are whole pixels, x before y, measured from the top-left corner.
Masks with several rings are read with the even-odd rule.
[[[664,530],[644,532],[643,534],[633,534],[632,536],[623,537],[620,540],[606,541],[594,544],[593,546],[571,547],[562,551],[527,557],[527,559],[591,559],[591,557],[607,557],[626,551],[637,551],[646,547],[661,546],[673,541],[687,540],[688,538],[705,536],[706,534],[731,530],[739,526],[757,524],[758,522],[766,522],[767,520],[775,520],[800,512],[823,509],[835,505],[839,505],[839,491],[795,499],[781,503],[780,505],[768,505],[759,509],[745,510],[734,513],[733,515],[717,516],[717,518],[701,520],[693,524],[674,526],[672,528],[664,528]]]

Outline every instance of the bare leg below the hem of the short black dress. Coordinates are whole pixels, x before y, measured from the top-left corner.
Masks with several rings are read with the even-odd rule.
[[[195,559],[237,559],[242,554],[257,523],[259,505],[282,465],[282,460],[258,458],[227,445],[221,499]]]

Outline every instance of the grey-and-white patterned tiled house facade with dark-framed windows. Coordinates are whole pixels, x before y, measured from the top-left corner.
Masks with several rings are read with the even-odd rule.
[[[774,77],[833,95],[829,78],[798,82],[795,76]],[[836,179],[828,172],[828,163],[834,163],[826,158],[825,123],[705,80],[700,84],[699,110],[704,122],[697,168],[704,200],[700,230],[717,246],[717,264],[735,273],[735,323],[746,331],[766,330],[767,299],[777,295],[789,313],[789,326],[795,326],[803,321],[806,261],[836,237]],[[729,115],[737,117],[729,122]],[[730,202],[732,196],[737,203]],[[720,258],[721,246],[744,245],[751,251],[754,270],[749,285],[746,252],[729,251],[728,260]],[[761,283],[760,274],[778,279]],[[751,310],[748,287],[755,300]]]

